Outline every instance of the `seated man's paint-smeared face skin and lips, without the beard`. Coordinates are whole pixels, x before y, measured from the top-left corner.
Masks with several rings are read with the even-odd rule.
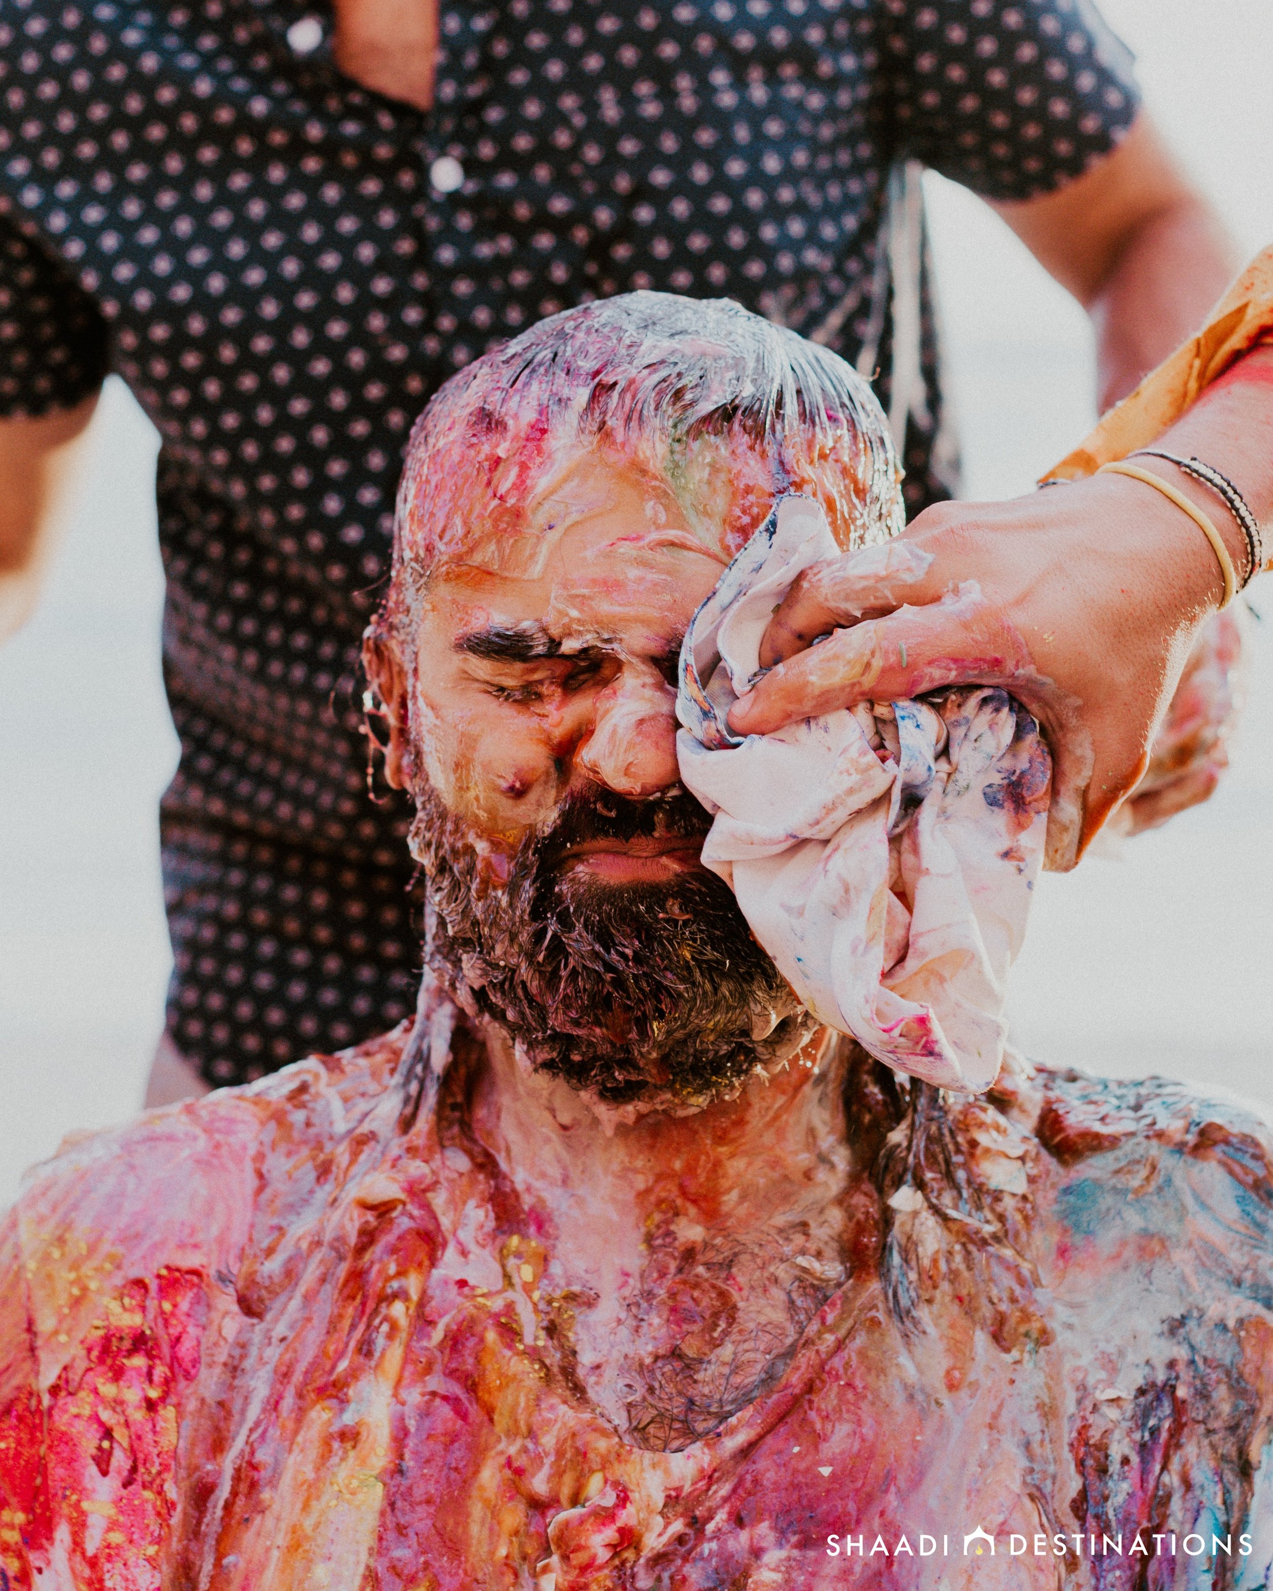
[[[417,651],[430,780],[498,846],[571,788],[640,800],[676,783],[676,654],[727,563],[662,482],[600,453],[555,471],[524,527],[474,528],[430,589]],[[641,870],[619,854],[589,866]]]

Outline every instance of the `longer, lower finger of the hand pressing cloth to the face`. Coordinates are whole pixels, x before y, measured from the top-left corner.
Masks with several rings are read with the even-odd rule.
[[[837,630],[780,663],[729,714],[737,733],[858,702],[891,702],[952,684],[1010,684],[1037,678],[1025,643],[975,589],[925,608],[899,608]]]

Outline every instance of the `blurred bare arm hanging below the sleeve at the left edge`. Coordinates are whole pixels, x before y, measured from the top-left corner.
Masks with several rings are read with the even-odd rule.
[[[54,543],[54,508],[97,398],[38,420],[0,420],[0,643],[32,616]]]

